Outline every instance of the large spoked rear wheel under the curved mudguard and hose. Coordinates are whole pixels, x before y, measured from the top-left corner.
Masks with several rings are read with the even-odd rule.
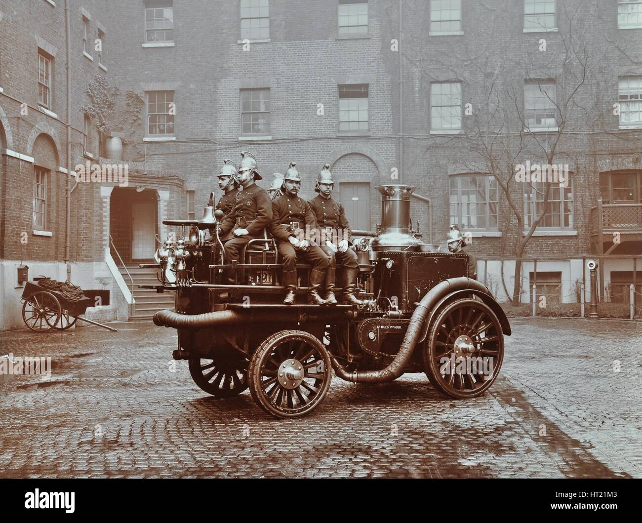
[[[430,382],[452,398],[474,398],[493,384],[504,359],[504,334],[490,307],[473,298],[438,312],[424,345]]]

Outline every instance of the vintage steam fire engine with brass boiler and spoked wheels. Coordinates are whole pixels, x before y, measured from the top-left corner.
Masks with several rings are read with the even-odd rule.
[[[425,372],[444,395],[474,398],[492,386],[504,357],[506,315],[480,282],[466,277],[469,256],[438,252],[412,230],[415,187],[377,187],[377,233],[357,232],[363,306],[282,305],[278,253],[267,234],[248,243],[243,262],[227,263],[220,211],[201,220],[168,220],[181,229],[157,251],[157,292],[175,291],[174,309],[153,322],[178,332],[174,359],[189,361],[196,384],[217,398],[250,389],[279,418],[306,415],[325,398],[334,374],[355,383]],[[223,283],[233,270],[236,284]],[[341,267],[337,266],[337,272]],[[341,281],[337,277],[337,281]],[[337,289],[340,291],[340,289]]]

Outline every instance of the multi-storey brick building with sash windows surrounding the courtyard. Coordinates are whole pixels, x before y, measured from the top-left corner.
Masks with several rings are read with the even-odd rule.
[[[575,301],[582,257],[611,247],[603,284],[623,288],[633,277],[642,241],[638,2],[69,0],[69,8],[67,159],[64,1],[0,0],[0,329],[22,325],[21,263],[30,278],[64,280],[70,270],[75,284],[110,289],[110,305],[90,317],[146,317],[164,306],[132,290],[153,278],[137,264],[166,234],[163,219],[200,216],[223,159],[243,150],[256,156],[264,186],[296,161],[304,198],[331,164],[354,228],[376,227],[376,185],[416,185],[430,200],[412,205],[424,241],[440,243],[459,223],[482,259],[480,279],[501,299],[499,260],[510,291],[520,232],[488,176],[495,157],[480,145],[497,135],[512,167],[544,163],[557,139],[551,163],[568,165],[572,180],[553,191],[525,248],[525,259],[539,257],[537,287]],[[577,64],[560,60],[568,42],[589,49],[592,65],[573,96]],[[576,112],[556,113],[566,100]],[[489,107],[501,108],[505,124],[484,118]],[[93,182],[72,178],[65,256],[65,171],[87,161],[126,166],[128,184],[104,170]],[[542,191],[525,187],[512,182],[509,191],[528,227]],[[534,271],[526,260],[525,289]]]

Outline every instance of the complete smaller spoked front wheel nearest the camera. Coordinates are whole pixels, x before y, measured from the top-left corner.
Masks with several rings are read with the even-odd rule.
[[[250,359],[250,393],[267,413],[296,418],[325,398],[332,370],[323,344],[304,330],[281,330]]]

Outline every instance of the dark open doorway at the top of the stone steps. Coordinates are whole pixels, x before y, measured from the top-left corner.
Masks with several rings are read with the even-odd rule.
[[[109,200],[112,257],[116,260],[120,256],[126,265],[153,261],[157,218],[158,195],[155,190],[114,187]]]

